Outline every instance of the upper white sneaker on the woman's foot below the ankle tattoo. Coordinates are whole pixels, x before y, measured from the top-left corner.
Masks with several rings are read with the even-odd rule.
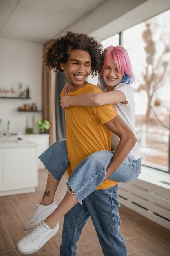
[[[35,209],[31,218],[23,225],[24,230],[31,229],[36,225],[40,224],[42,220],[45,220],[55,209],[58,204],[53,200],[53,202],[49,205],[37,204],[37,208]]]

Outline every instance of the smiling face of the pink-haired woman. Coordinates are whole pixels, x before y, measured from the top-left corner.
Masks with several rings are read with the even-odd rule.
[[[107,87],[112,90],[114,90],[116,85],[118,85],[123,78],[123,74],[118,72],[117,67],[115,67],[113,58],[110,59],[108,65],[104,66],[102,74]]]

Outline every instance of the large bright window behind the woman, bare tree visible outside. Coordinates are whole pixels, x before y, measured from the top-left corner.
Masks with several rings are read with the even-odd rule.
[[[169,171],[170,10],[122,31],[136,76],[136,132],[142,164]],[[116,39],[116,40],[115,40]],[[118,45],[117,35],[102,41]]]

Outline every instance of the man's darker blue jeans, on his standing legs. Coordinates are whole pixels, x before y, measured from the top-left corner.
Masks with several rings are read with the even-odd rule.
[[[93,191],[81,204],[76,204],[64,216],[61,256],[77,256],[77,241],[82,228],[91,217],[105,256],[127,256],[120,234],[117,185]]]

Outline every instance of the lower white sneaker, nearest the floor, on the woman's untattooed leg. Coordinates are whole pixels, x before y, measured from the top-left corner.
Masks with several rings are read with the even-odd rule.
[[[38,227],[18,241],[18,252],[20,254],[31,254],[37,252],[50,238],[57,234],[58,229],[59,222],[55,228],[50,229],[44,220],[42,220]]]

